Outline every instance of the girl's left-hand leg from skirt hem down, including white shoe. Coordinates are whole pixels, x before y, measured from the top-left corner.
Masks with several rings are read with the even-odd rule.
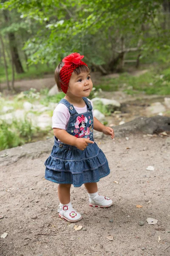
[[[69,222],[76,222],[81,220],[82,215],[78,213],[71,205],[70,201],[70,188],[71,184],[59,184],[58,185],[58,197],[59,197],[59,217],[64,218]]]

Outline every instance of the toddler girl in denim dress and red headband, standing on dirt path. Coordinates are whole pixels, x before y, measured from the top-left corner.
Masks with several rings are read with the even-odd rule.
[[[69,222],[81,220],[82,215],[71,205],[70,188],[85,185],[92,207],[110,207],[113,201],[98,193],[100,178],[110,173],[108,161],[94,143],[93,130],[114,138],[111,127],[105,127],[93,116],[92,102],[87,98],[92,90],[88,65],[75,52],[59,63],[55,80],[66,95],[54,110],[52,121],[54,146],[45,161],[45,178],[59,183],[59,216]]]

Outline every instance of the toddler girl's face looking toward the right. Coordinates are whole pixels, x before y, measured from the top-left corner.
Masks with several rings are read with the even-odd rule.
[[[90,73],[72,73],[68,84],[68,93],[76,97],[88,97],[93,88]]]

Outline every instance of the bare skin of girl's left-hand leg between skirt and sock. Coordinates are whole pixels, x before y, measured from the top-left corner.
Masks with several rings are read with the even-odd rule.
[[[70,188],[71,184],[58,185],[58,197],[61,204],[70,203]]]

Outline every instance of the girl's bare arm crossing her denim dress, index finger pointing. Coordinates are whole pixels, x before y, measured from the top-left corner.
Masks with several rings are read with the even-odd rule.
[[[57,137],[62,143],[76,146],[80,150],[84,150],[88,146],[88,143],[94,143],[90,139],[74,137],[63,129],[53,128],[53,132],[55,137]]]

